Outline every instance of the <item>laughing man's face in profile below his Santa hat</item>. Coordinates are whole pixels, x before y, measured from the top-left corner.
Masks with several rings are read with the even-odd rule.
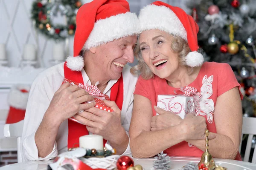
[[[125,64],[133,63],[136,43],[136,36],[128,36],[95,47],[92,50],[95,50],[96,55],[90,64],[105,78],[118,79]]]

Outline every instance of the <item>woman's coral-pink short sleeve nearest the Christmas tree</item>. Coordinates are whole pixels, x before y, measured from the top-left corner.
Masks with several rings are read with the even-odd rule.
[[[231,69],[231,66],[227,63],[222,63],[218,72],[218,96],[222,95],[224,92],[229,91],[230,89],[233,89],[236,86],[239,87],[239,93],[242,100],[243,95],[240,92],[241,85],[238,83],[236,76]]]

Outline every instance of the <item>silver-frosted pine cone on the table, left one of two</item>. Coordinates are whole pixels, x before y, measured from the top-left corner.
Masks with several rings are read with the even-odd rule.
[[[154,157],[157,159],[153,162],[153,167],[155,170],[169,170],[170,169],[170,163],[169,156],[167,156],[166,153],[158,153],[157,156]]]

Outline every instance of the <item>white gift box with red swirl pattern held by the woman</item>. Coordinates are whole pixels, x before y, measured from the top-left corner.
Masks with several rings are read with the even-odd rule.
[[[194,98],[192,96],[187,97],[183,95],[158,95],[157,107],[166,111],[173,112],[185,118],[188,113],[195,114]],[[158,115],[158,113],[157,113]]]

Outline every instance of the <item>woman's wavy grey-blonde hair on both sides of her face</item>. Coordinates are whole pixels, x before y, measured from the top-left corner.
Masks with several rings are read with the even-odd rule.
[[[172,35],[172,36],[173,36],[173,40],[172,40],[171,49],[173,52],[178,54],[179,65],[186,66],[189,72],[192,72],[193,68],[186,64],[186,56],[188,55],[189,52],[191,52],[191,50],[189,49],[188,42],[179,36],[175,36],[175,35]],[[148,67],[148,65],[145,63],[145,61],[142,58],[139,39],[140,39],[140,36],[138,36],[137,46],[134,50],[134,55],[138,60],[138,64],[136,66],[133,66],[130,69],[130,72],[133,75],[141,75],[143,79],[148,80],[154,77],[154,73],[151,71],[151,69]]]

